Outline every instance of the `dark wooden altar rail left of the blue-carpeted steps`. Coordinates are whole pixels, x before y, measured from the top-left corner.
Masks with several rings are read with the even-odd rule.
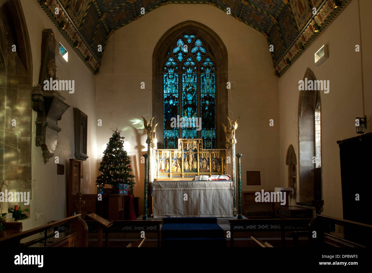
[[[98,223],[94,220],[87,220],[89,232],[98,232]],[[108,246],[109,233],[138,233],[144,231],[157,233],[157,246],[160,247],[160,224],[161,220],[114,220],[113,225],[106,228],[106,247]]]

